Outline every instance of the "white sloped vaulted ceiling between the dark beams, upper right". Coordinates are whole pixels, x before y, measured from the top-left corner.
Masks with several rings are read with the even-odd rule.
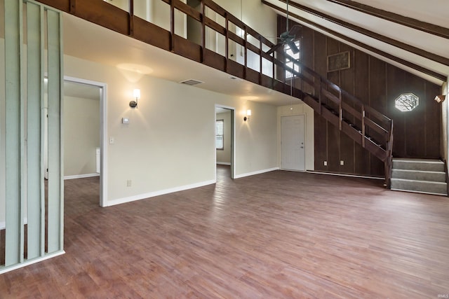
[[[286,9],[287,5],[281,0],[267,0],[269,3],[274,4],[280,8]],[[290,1],[292,2],[292,1]],[[357,25],[358,27],[362,27],[363,29],[368,29],[371,32],[375,32],[377,34],[382,34],[383,36],[387,36],[390,39],[395,39],[396,41],[401,41],[402,43],[406,43],[407,45],[420,48],[429,53],[434,53],[436,55],[440,55],[442,57],[449,57],[449,39],[443,39],[442,37],[434,36],[432,34],[428,34],[426,32],[422,32],[417,29],[413,29],[410,27],[406,27],[403,25],[398,25],[395,22],[390,22],[387,20],[383,20],[381,18],[377,18],[373,15],[368,15],[366,13],[361,13],[359,11],[354,11],[351,8],[347,8],[345,6],[334,4],[327,0],[294,0],[293,2],[297,4],[301,4],[302,6],[307,6],[309,8],[313,8],[316,11],[320,11],[322,13],[326,13],[326,15],[330,15],[334,18],[338,18],[344,22],[349,22],[353,25]],[[449,28],[449,1],[448,0],[431,0],[431,1],[422,1],[422,0],[356,0],[356,2],[361,4],[366,4],[368,6],[372,6],[375,8],[382,9],[384,11],[389,11],[392,13],[397,13],[399,15],[404,15],[409,18],[414,18],[416,20],[420,20],[422,22],[428,22],[430,24],[438,25],[441,27]],[[427,68],[431,71],[435,71],[438,74],[443,74],[445,76],[449,76],[449,66],[434,62],[425,57],[421,57],[414,53],[410,53],[407,50],[403,50],[401,48],[397,48],[395,46],[391,46],[388,43],[384,43],[382,41],[378,41],[377,39],[373,39],[369,36],[360,34],[355,32],[347,27],[343,27],[341,25],[337,25],[334,22],[330,22],[327,20],[323,20],[317,15],[311,15],[310,13],[306,13],[298,8],[289,6],[288,10],[290,13],[295,15],[299,15],[301,18],[314,22],[318,25],[326,27],[328,29],[333,30],[339,34],[349,37],[350,39],[354,39],[361,43],[365,43],[366,45],[376,48],[377,50],[382,50],[384,53],[388,53],[390,55],[394,55],[395,57],[401,58],[402,60],[406,60],[408,62],[413,62],[413,64],[417,64],[420,67]],[[285,15],[285,14],[284,14]],[[291,16],[291,15],[290,15]],[[299,22],[307,27],[311,27],[316,31],[322,32],[328,36],[328,32],[323,32],[323,30],[313,27],[306,22],[302,22],[301,20],[295,19],[293,16],[291,17],[296,22]],[[342,41],[336,36],[332,36],[333,38]],[[343,41],[347,43],[347,41]],[[417,76],[421,76],[431,82],[434,82],[438,85],[442,85],[443,81],[438,80],[434,77],[431,77],[427,74],[424,74],[415,69],[411,69],[410,67],[406,67],[398,62],[394,62],[385,57],[382,57],[376,53],[372,53],[368,50],[361,48],[360,46],[356,46],[352,44],[354,48],[358,48],[359,50],[363,50],[364,52],[369,53],[381,60],[389,62],[390,64],[394,64],[397,67],[401,67],[406,71],[409,71],[412,74],[416,74]]]

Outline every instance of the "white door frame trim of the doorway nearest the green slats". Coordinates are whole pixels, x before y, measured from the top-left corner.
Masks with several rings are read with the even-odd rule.
[[[100,89],[100,207],[107,202],[107,84],[81,78],[64,76],[64,81],[91,85]]]

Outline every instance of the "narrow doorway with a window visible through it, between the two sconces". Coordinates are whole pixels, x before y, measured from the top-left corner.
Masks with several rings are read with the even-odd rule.
[[[215,181],[234,179],[235,110],[215,106]]]

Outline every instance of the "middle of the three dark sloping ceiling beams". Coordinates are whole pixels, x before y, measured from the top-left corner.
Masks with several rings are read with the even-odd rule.
[[[281,2],[286,2],[286,0],[279,0]],[[264,2],[264,1],[262,1]],[[403,43],[401,41],[396,41],[396,39],[391,39],[387,36],[384,36],[382,34],[378,34],[376,32],[372,32],[368,29],[365,29],[363,27],[351,24],[349,22],[345,22],[343,20],[334,18],[331,15],[327,15],[326,13],[322,13],[321,11],[316,11],[313,8],[309,8],[307,6],[303,6],[302,4],[297,4],[296,2],[289,1],[290,6],[293,6],[301,11],[304,11],[306,13],[310,13],[311,15],[316,15],[319,18],[322,18],[323,20],[326,20],[328,22],[333,22],[334,24],[340,25],[342,27],[345,27],[347,29],[350,29],[354,32],[358,32],[360,34],[369,36],[372,39],[377,39],[377,41],[382,41],[384,43],[388,43],[391,46],[395,46],[396,48],[401,48],[402,50],[406,50],[410,53],[419,55],[421,57],[427,58],[429,60],[433,60],[434,62],[438,62],[444,65],[449,66],[449,58],[443,57],[440,55],[436,55],[434,53],[427,52],[426,50],[422,50],[420,48],[410,46],[408,43]]]

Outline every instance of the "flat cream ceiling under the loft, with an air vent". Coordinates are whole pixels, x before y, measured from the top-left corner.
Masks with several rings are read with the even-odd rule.
[[[194,62],[180,55],[161,50],[147,43],[105,29],[73,15],[64,13],[65,54],[117,67],[130,81],[149,74],[168,81],[188,79],[203,81],[192,88],[203,88],[244,101],[262,102],[275,106],[300,101],[260,85]]]

